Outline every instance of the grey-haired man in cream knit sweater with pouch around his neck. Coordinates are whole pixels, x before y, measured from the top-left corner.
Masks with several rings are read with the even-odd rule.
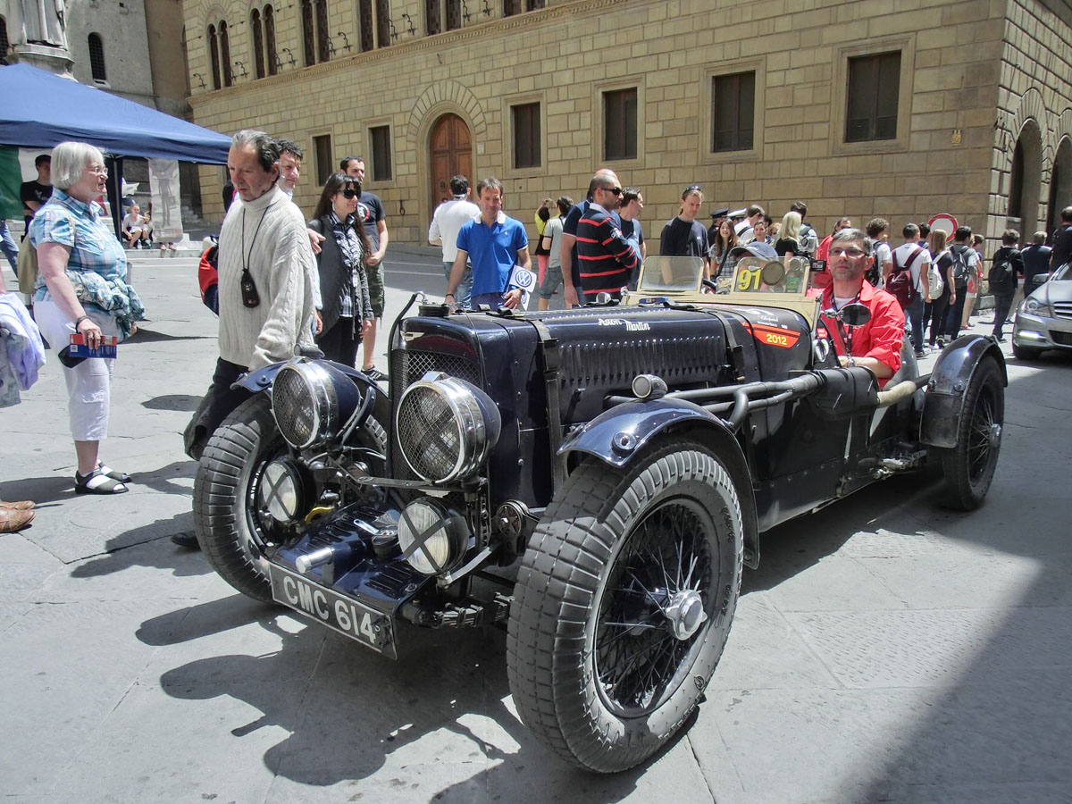
[[[316,263],[301,210],[277,185],[279,158],[274,139],[250,130],[235,134],[227,153],[238,199],[220,230],[220,358],[209,436],[250,397],[230,387],[241,374],[313,345]]]

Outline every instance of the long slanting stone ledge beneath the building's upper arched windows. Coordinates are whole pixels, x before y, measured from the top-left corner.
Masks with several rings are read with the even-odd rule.
[[[200,92],[198,94],[190,95],[187,100],[190,103],[190,107],[196,113],[198,106],[205,106],[208,104],[214,105],[220,101],[226,103],[227,99],[233,95],[241,95],[254,88],[271,90],[277,87],[293,84],[297,80],[307,80],[322,75],[330,75],[339,70],[348,70],[363,64],[374,64],[381,61],[396,59],[405,56],[406,54],[416,54],[426,50],[435,50],[442,47],[451,47],[458,43],[466,42],[468,40],[506,33],[517,28],[528,28],[541,25],[551,19],[557,19],[560,17],[580,16],[582,14],[589,14],[590,12],[597,12],[600,9],[614,5],[625,5],[628,2],[629,0],[577,0],[576,2],[562,3],[561,5],[552,5],[549,9],[524,12],[522,14],[515,14],[510,17],[493,19],[488,23],[465,26],[464,28],[459,28],[453,31],[436,33],[432,36],[415,38],[413,41],[406,42],[403,45],[391,45],[390,47],[375,48],[373,50],[368,50],[367,53],[347,56],[343,59],[325,61],[319,64],[301,68],[300,70],[289,70],[278,75],[257,78],[245,84],[234,85],[209,92]]]

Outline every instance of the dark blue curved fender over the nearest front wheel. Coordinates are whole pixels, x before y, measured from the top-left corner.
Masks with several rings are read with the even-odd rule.
[[[567,463],[570,458],[587,455],[615,468],[624,468],[644,447],[671,432],[695,440],[723,460],[741,501],[744,562],[755,569],[759,564],[759,531],[748,462],[729,425],[714,414],[686,400],[624,402],[571,432],[559,455],[565,457]]]

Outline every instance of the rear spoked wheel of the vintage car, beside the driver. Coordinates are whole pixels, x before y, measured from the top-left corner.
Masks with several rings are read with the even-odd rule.
[[[1003,425],[1001,371],[996,360],[985,358],[964,394],[956,446],[941,450],[944,502],[950,507],[970,511],[982,505],[997,467]]]

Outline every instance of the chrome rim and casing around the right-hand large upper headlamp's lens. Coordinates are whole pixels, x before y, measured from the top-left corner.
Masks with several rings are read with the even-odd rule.
[[[413,458],[407,449],[412,444],[399,438],[402,458],[410,470],[430,483],[446,483],[459,478],[467,478],[476,473],[491,449],[492,438],[489,438],[488,422],[485,420],[485,410],[477,399],[475,389],[468,383],[442,372],[428,372],[420,379],[412,383],[399,398],[394,413],[397,433],[402,433],[402,416],[406,414],[406,400],[414,393],[431,391],[441,398],[450,412],[451,431],[458,438],[458,453],[453,465],[442,477],[431,477],[417,465],[420,461]],[[497,438],[497,432],[495,433]]]

